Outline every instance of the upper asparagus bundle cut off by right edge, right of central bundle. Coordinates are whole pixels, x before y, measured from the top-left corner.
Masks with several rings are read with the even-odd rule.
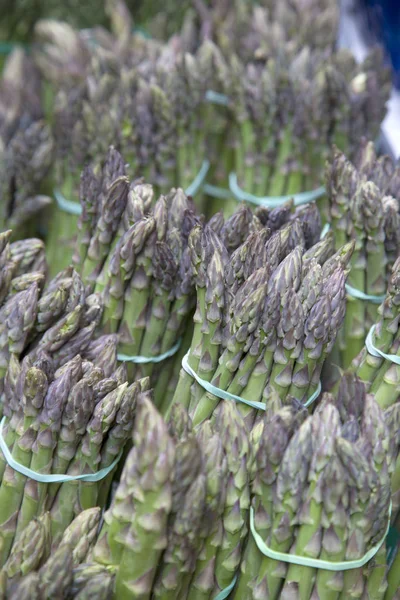
[[[327,166],[328,218],[337,247],[355,241],[348,299],[339,337],[340,363],[349,366],[360,352],[385,297],[400,250],[400,169],[387,156],[376,158],[364,142],[356,167],[338,150]]]

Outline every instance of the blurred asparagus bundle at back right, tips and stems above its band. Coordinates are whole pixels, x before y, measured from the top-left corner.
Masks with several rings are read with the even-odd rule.
[[[281,196],[314,190],[332,143],[354,156],[366,132],[374,138],[385,114],[390,79],[378,51],[357,65],[344,50],[326,54],[290,43],[230,59],[236,126],[231,190]]]

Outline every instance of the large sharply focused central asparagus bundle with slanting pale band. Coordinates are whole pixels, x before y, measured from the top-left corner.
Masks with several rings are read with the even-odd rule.
[[[173,402],[188,408],[195,425],[211,416],[219,397],[193,377],[251,402],[265,402],[267,384],[282,400],[306,402],[317,391],[344,318],[353,244],[332,255],[330,234],[317,241],[318,212],[309,207],[305,214],[298,210],[275,232],[254,232],[230,257],[210,226],[190,234],[197,308]],[[268,212],[260,216],[268,219]],[[240,411],[251,425],[254,410],[240,403]]]

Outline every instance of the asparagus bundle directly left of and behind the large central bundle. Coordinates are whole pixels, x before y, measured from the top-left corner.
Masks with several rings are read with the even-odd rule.
[[[128,362],[177,349],[195,302],[188,248],[189,232],[199,222],[193,204],[179,189],[154,206],[153,199],[151,186],[129,184],[113,148],[102,178],[90,168],[82,175],[74,261],[88,288],[103,296],[102,329],[118,333]],[[153,367],[142,372],[151,374]],[[138,374],[130,371],[132,378]]]

